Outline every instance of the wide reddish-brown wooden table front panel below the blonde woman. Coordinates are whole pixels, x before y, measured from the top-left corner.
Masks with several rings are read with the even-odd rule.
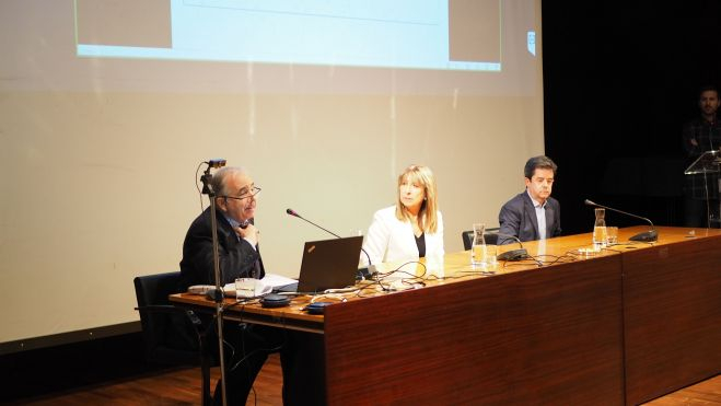
[[[329,306],[328,403],[624,403],[620,255]]]

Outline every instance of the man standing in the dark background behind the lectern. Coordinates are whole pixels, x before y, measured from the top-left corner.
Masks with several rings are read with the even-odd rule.
[[[717,117],[719,91],[703,86],[699,91],[700,115],[684,125],[684,151],[690,165],[703,152],[721,149],[721,123]],[[719,227],[719,174],[685,175],[684,225]],[[713,221],[712,221],[713,220]]]

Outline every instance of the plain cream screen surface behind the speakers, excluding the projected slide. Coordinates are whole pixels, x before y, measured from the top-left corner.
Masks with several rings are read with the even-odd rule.
[[[251,171],[267,270],[295,276],[303,242],[328,235],[286,208],[339,234],[367,230],[398,173],[426,164],[446,252],[461,251],[461,231],[497,224],[544,150],[539,58],[530,79],[508,67],[451,84],[403,70],[81,59],[72,4],[0,3],[0,343],[137,320],[132,278],[178,269],[201,161]]]

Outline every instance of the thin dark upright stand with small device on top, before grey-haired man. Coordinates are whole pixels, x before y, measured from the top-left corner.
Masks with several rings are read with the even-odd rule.
[[[216,163],[210,161],[208,163],[208,169],[203,172],[203,175],[200,176],[202,182],[202,194],[208,195],[210,199],[210,229],[212,234],[212,254],[213,254],[213,270],[216,277],[216,290],[212,293],[212,300],[216,302],[216,326],[218,328],[218,355],[220,357],[220,388],[221,396],[223,401],[223,406],[228,405],[228,396],[225,394],[225,356],[223,350],[223,291],[220,287],[220,254],[218,253],[218,219],[216,218],[216,192],[209,186],[209,182],[212,178],[210,174],[210,169],[223,166],[225,161],[221,163]]]

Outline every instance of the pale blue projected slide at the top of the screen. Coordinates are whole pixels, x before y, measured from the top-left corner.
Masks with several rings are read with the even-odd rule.
[[[77,1],[78,56],[500,71],[500,0]]]

